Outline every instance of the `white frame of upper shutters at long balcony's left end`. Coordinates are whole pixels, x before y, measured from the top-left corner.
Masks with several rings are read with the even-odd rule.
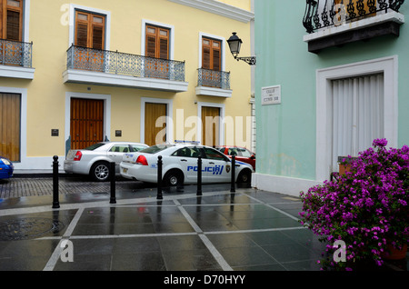
[[[70,4],[70,21],[69,21],[70,29],[69,29],[69,36],[68,36],[69,37],[68,47],[75,44],[75,11],[76,10],[83,10],[83,11],[87,11],[90,13],[105,15],[105,50],[109,50],[110,43],[111,43],[111,12],[102,10],[102,9],[87,7],[84,5],[75,5],[75,4]]]

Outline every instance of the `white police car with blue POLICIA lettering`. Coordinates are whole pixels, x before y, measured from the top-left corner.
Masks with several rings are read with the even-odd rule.
[[[158,156],[162,156],[162,177],[166,186],[197,183],[197,160],[202,156],[202,183],[231,182],[232,161],[225,154],[204,145],[153,145],[137,153],[124,154],[120,173],[127,179],[157,182]],[[250,164],[235,163],[237,183],[249,183],[254,173]]]

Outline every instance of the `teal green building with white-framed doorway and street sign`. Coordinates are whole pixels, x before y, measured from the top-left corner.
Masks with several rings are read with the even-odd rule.
[[[409,144],[409,3],[254,1],[259,189],[299,195],[338,158]]]

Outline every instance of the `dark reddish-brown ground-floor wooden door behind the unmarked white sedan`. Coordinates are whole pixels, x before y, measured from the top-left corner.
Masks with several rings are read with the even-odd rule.
[[[71,99],[71,149],[104,141],[104,100]]]

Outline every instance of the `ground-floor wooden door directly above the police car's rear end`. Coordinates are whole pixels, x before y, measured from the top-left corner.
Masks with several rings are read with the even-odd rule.
[[[165,104],[145,104],[145,144],[161,145],[166,142],[167,105]],[[161,118],[162,117],[162,118]],[[158,126],[156,126],[158,125]]]

